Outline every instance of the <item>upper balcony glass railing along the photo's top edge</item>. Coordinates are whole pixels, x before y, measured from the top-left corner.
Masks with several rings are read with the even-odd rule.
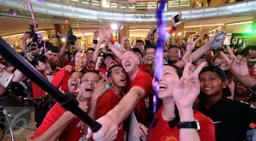
[[[59,1],[59,0],[50,0]],[[168,0],[166,9],[171,10],[173,8],[185,8],[185,7],[209,7],[217,6],[226,3],[235,3],[244,0]],[[249,1],[249,0],[247,0]],[[156,1],[139,1],[139,2],[129,2],[116,0],[111,2],[109,0],[70,0],[71,3],[79,3],[80,5],[94,6],[92,9],[96,8],[109,8],[109,9],[129,9],[136,10],[155,10],[158,7],[158,2]]]

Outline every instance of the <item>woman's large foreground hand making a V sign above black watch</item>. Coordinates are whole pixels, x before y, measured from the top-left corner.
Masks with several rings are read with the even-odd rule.
[[[200,93],[198,75],[205,64],[205,62],[202,62],[197,69],[190,74],[190,62],[186,63],[182,78],[176,83],[173,89],[173,98],[179,110],[182,108],[192,109],[193,103]]]

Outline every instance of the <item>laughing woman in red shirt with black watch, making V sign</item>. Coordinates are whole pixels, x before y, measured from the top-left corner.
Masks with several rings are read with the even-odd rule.
[[[134,136],[152,140],[207,140],[215,139],[215,128],[212,120],[202,113],[193,111],[193,103],[200,92],[198,74],[205,63],[200,64],[192,73],[186,64],[184,73],[173,64],[166,64],[159,82],[158,97],[161,99],[160,108],[154,116],[154,121],[147,133],[147,127],[139,123],[134,128]],[[189,72],[189,73],[188,73]],[[188,75],[190,74],[190,75]],[[193,74],[193,75],[191,75]],[[190,79],[189,79],[190,78]],[[184,129],[179,129],[177,124],[184,121],[194,121],[200,124],[201,130],[190,129],[192,134],[184,134]],[[186,138],[186,139],[185,139]]]

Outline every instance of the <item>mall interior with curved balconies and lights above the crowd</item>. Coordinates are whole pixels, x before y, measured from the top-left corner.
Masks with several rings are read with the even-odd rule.
[[[182,12],[182,24],[167,43],[182,45],[191,35],[211,36],[217,31],[226,31],[225,45],[253,43],[256,38],[253,34],[256,32],[255,2],[169,0],[165,7],[167,28],[172,26],[171,16],[178,12]],[[0,35],[19,52],[23,32],[29,31],[28,16],[32,21],[29,7],[25,2],[25,9],[18,0],[1,0],[0,3]],[[138,39],[144,40],[150,28],[156,25],[159,3],[156,0],[44,0],[43,3],[33,0],[31,4],[38,33],[44,41],[58,47],[65,41],[68,27],[73,28],[80,47],[91,47],[93,31],[101,27],[111,29],[118,42],[128,37],[127,47],[132,47]]]

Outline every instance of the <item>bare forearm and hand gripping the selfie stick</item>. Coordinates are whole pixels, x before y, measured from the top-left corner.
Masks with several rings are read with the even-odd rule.
[[[93,137],[97,141],[114,140],[117,137],[118,124],[132,113],[139,99],[144,96],[145,91],[143,88],[132,87],[113,110],[97,120],[102,125],[98,132],[92,133],[91,129],[88,128],[87,139]]]

